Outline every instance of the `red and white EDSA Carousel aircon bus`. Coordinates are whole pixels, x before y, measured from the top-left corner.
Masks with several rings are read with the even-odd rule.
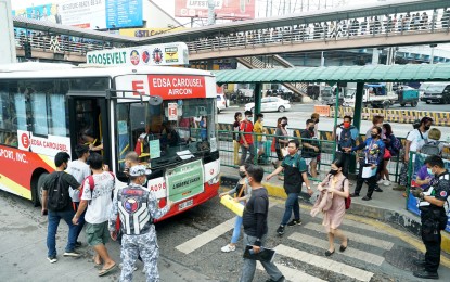
[[[97,142],[116,188],[126,185],[125,155],[136,151],[159,206],[176,203],[164,218],[182,213],[217,195],[216,99],[216,79],[204,70],[0,66],[0,189],[39,205],[54,155],[76,158],[77,144]]]

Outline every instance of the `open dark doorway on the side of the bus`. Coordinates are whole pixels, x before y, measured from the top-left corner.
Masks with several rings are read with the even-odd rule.
[[[86,144],[91,148],[91,153],[102,154],[104,163],[111,167],[110,110],[105,93],[99,94],[102,97],[92,92],[89,97],[79,93],[68,97],[72,158],[77,158],[75,148]]]

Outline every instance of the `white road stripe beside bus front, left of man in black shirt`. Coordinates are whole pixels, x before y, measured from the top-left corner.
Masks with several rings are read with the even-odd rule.
[[[274,203],[269,202],[269,208],[271,208],[274,205],[275,205]],[[235,221],[235,217],[209,229],[206,232],[203,232],[202,234],[197,236],[194,236],[191,240],[188,240],[187,242],[176,246],[175,248],[177,248],[178,251],[184,254],[190,254],[194,252],[195,249],[200,248],[201,246],[206,245],[213,240],[232,230],[234,228],[234,221]]]

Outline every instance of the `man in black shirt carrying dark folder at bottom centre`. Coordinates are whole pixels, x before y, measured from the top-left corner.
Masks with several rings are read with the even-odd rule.
[[[244,247],[252,245],[255,253],[259,253],[267,238],[267,216],[269,210],[269,195],[261,181],[263,169],[260,166],[249,166],[247,168],[247,180],[252,187],[252,196],[245,205],[242,216],[244,226]],[[284,281],[283,274],[273,262],[260,261],[270,281]],[[244,266],[240,282],[252,282],[255,275],[256,260],[244,258]]]

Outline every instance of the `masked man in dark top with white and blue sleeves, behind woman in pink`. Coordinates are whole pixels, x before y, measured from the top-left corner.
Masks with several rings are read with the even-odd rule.
[[[345,116],[344,123],[333,131],[333,140],[337,141],[336,158],[343,163],[343,174],[348,178],[348,168],[350,166],[351,151],[346,149],[356,145],[359,139],[358,129],[351,125],[351,116]]]

